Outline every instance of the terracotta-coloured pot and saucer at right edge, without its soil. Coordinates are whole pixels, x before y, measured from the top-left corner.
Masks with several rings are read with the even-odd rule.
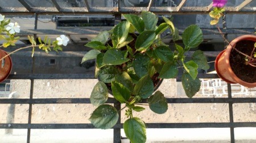
[[[251,40],[256,42],[256,36],[243,35],[234,39],[230,44],[233,45],[234,47],[236,46],[236,43],[238,41],[242,41],[242,40]],[[215,69],[218,74],[218,77],[220,77],[227,83],[239,83],[240,85],[246,86],[249,88],[256,87],[256,82],[249,83],[249,82],[242,81],[240,78],[237,77],[236,74],[234,74],[232,68],[230,67],[230,61],[229,61],[230,52],[232,51],[232,46],[230,44],[228,45],[226,50],[218,54],[215,60]]]

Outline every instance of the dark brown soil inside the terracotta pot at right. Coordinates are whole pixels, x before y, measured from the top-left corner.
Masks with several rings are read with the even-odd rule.
[[[247,55],[251,55],[253,51],[255,41],[250,40],[242,40],[236,44],[236,49],[241,51]],[[256,50],[254,49],[254,52]],[[256,68],[250,65],[245,64],[245,56],[239,54],[237,51],[232,50],[230,53],[230,66],[237,75],[238,78],[242,79],[242,81],[254,83],[256,82]]]

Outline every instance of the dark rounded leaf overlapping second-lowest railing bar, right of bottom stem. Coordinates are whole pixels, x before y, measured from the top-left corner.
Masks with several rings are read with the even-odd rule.
[[[165,113],[168,110],[167,100],[160,91],[156,91],[155,94],[148,98],[148,104],[150,109],[155,113]]]

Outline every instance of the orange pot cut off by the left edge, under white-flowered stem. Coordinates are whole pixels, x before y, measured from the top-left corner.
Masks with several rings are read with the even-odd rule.
[[[7,53],[0,49],[0,58],[6,55]],[[2,61],[0,61],[0,64],[0,82],[3,82],[11,73],[13,62],[11,62],[11,57],[7,56]]]

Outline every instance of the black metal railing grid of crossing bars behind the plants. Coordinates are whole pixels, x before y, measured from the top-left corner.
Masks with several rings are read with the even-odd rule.
[[[120,0],[119,0],[120,1]],[[118,1],[118,2],[119,2]],[[226,7],[226,12],[229,14],[256,14],[256,9],[253,7],[245,7],[247,4],[253,0],[245,0],[237,7]],[[37,30],[38,15],[80,15],[80,14],[102,14],[109,15],[113,14],[115,16],[115,23],[121,21],[121,14],[123,13],[138,13],[143,10],[155,12],[156,14],[208,14],[212,8],[212,3],[205,7],[183,7],[186,0],[182,0],[180,5],[177,7],[151,7],[153,0],[150,1],[148,7],[90,7],[87,0],[84,0],[86,7],[60,7],[56,0],[52,0],[55,7],[31,7],[24,0],[19,0],[24,7],[1,7],[0,13],[5,15],[35,15],[35,27],[34,31],[21,31],[21,35],[34,35],[44,33],[47,35],[53,34],[97,34],[98,31],[91,31],[90,28],[86,28],[84,31],[80,29],[68,29],[68,30]],[[170,8],[170,9],[167,9]],[[229,30],[226,31],[225,26],[225,16],[223,19],[223,28],[228,33],[253,33],[253,29],[244,30]],[[106,30],[108,27],[103,27],[102,30]],[[217,30],[203,30],[204,34],[218,33]],[[51,98],[51,99],[34,99],[34,80],[35,79],[93,79],[93,74],[12,74],[9,79],[30,79],[30,98],[29,99],[0,99],[0,104],[29,104],[28,112],[28,123],[27,124],[0,124],[0,129],[27,129],[27,142],[30,142],[30,131],[31,129],[93,129],[92,124],[32,124],[32,104],[90,104],[90,99],[88,98]],[[179,80],[181,75],[178,75]],[[217,74],[199,74],[199,78],[218,78]],[[228,98],[168,98],[167,101],[170,104],[175,103],[228,103],[229,104],[229,122],[228,123],[150,123],[146,124],[147,128],[230,128],[230,141],[235,142],[234,128],[237,127],[256,127],[256,122],[234,122],[233,120],[233,107],[234,103],[256,103],[256,98],[232,98],[232,89],[230,84],[228,84]],[[89,94],[89,93],[87,93]],[[146,100],[142,101],[146,103]],[[121,104],[109,98],[107,103],[113,103],[114,106],[119,110]],[[114,142],[121,142],[121,119],[119,117],[117,125],[113,127],[114,129]]]

